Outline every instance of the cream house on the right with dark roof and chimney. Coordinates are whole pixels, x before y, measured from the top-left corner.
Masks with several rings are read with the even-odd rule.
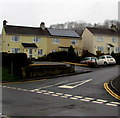
[[[97,51],[105,54],[120,52],[120,30],[115,25],[109,29],[86,27],[82,33],[84,50],[96,54]]]

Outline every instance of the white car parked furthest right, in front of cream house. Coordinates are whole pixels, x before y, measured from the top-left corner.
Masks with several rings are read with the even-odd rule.
[[[116,64],[115,59],[111,55],[103,55],[103,56],[98,57],[98,59],[97,59],[97,65],[107,66],[110,64],[111,65]]]

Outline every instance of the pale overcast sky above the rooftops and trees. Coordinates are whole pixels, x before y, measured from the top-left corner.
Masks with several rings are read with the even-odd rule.
[[[118,19],[120,0],[0,0],[0,30],[2,21],[9,25],[46,27],[68,21],[103,23]]]

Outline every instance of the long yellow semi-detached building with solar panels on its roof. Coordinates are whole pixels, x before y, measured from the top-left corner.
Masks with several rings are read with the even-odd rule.
[[[39,58],[50,52],[67,51],[70,45],[80,55],[82,40],[73,30],[7,25],[3,21],[2,52],[26,53],[28,58]]]

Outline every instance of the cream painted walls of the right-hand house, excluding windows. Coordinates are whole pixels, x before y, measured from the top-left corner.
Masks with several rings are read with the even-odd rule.
[[[103,41],[97,41],[97,36],[103,37]],[[93,35],[87,28],[85,28],[83,34],[82,34],[82,44],[83,44],[83,49],[88,50],[89,52],[96,54],[97,47],[102,46],[104,48],[103,53],[109,53],[108,51],[108,45],[112,44],[114,46],[114,52],[115,48],[119,47],[118,42],[112,42],[112,37],[116,36],[110,36],[110,35]],[[118,38],[118,37],[117,37]],[[119,40],[119,38],[118,38]],[[111,48],[112,49],[112,48]]]

